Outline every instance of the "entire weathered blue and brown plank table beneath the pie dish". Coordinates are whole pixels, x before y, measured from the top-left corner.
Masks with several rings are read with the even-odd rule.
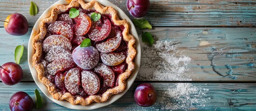
[[[0,0],[0,19],[23,14],[29,23],[24,36],[7,34],[0,24],[0,64],[14,62],[14,49],[24,44],[19,84],[0,83],[0,110],[9,111],[13,93],[27,92],[35,98],[36,86],[28,68],[28,39],[35,24],[57,0],[33,0],[36,16],[29,15],[31,0]],[[133,19],[126,0],[110,0]],[[141,68],[129,91],[102,111],[217,110],[256,111],[256,0],[150,0],[145,16],[155,44],[141,43]],[[176,44],[178,43],[178,44]],[[175,44],[175,45],[174,45]],[[158,99],[152,107],[140,107],[133,99],[135,88],[151,83]],[[41,92],[41,91],[40,91]],[[36,110],[70,110],[41,93],[44,106]]]

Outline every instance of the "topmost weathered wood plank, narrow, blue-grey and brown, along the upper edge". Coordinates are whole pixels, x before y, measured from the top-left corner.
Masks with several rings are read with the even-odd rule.
[[[38,14],[29,15],[31,0],[0,0],[0,19],[9,14],[23,14],[34,26],[41,14],[57,0],[35,0]],[[126,0],[110,0],[131,19]],[[255,0],[150,0],[150,10],[145,16],[153,26],[256,26]],[[0,24],[3,26],[3,24]]]

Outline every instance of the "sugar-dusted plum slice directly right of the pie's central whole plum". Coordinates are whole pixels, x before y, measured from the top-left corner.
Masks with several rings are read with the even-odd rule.
[[[100,53],[101,61],[108,66],[116,66],[125,61],[124,52]]]

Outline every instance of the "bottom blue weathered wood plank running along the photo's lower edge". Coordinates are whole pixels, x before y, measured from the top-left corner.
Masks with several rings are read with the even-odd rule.
[[[152,110],[217,110],[217,111],[253,111],[256,109],[256,84],[237,83],[152,83],[158,93],[155,105],[140,107],[133,99],[133,93],[139,83],[134,83],[128,92],[111,105],[97,109],[101,111],[152,111]],[[182,89],[182,88],[183,89]],[[19,83],[7,86],[0,83],[0,110],[9,111],[8,101],[13,93],[27,92],[35,100],[35,83]],[[180,88],[180,89],[179,89]],[[41,92],[41,91],[39,91]],[[42,92],[43,108],[38,111],[69,110],[55,104]]]

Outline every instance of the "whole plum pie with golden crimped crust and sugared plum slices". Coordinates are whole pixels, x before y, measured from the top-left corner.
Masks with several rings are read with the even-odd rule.
[[[79,14],[70,18],[73,8]],[[92,20],[95,13],[100,19]],[[136,40],[113,7],[72,0],[55,6],[39,26],[33,37],[33,66],[54,99],[90,105],[125,90],[135,69]],[[90,39],[90,46],[81,46],[85,39]]]

